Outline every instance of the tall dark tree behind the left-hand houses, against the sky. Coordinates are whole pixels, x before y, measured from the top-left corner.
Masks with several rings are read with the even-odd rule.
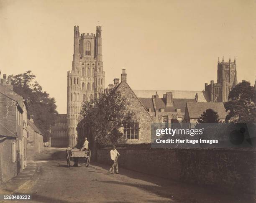
[[[42,87],[35,80],[36,76],[27,71],[16,76],[11,75],[13,91],[26,99],[28,118],[33,115],[36,126],[44,134],[44,141],[50,136],[51,125],[54,124],[56,115],[56,101],[49,97],[46,91],[42,91]]]

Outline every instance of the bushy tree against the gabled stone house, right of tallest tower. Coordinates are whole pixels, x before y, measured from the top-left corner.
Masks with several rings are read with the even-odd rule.
[[[132,122],[133,112],[128,108],[128,101],[116,88],[101,94],[99,99],[87,101],[82,105],[80,115],[83,119],[79,128],[91,128],[93,139],[100,146],[122,143],[120,128]]]

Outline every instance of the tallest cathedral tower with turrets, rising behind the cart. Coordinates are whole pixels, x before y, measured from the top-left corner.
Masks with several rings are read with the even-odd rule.
[[[68,147],[77,145],[82,102],[98,98],[105,89],[101,50],[101,26],[97,26],[96,35],[80,34],[79,26],[74,26],[72,71],[67,74]]]

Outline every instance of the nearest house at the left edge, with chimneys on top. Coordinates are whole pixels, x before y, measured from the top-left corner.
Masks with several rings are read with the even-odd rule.
[[[0,182],[5,182],[26,167],[27,155],[26,103],[5,74],[0,79],[0,115]]]

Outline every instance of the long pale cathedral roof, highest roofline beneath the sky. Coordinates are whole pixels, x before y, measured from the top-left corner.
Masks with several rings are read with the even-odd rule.
[[[172,92],[173,98],[175,99],[195,99],[195,95],[198,94],[199,102],[207,102],[210,101],[205,91],[182,91],[182,90],[133,90],[133,92],[139,98],[148,98],[152,97],[152,95],[157,94],[159,98],[163,98],[163,95],[166,92]]]

